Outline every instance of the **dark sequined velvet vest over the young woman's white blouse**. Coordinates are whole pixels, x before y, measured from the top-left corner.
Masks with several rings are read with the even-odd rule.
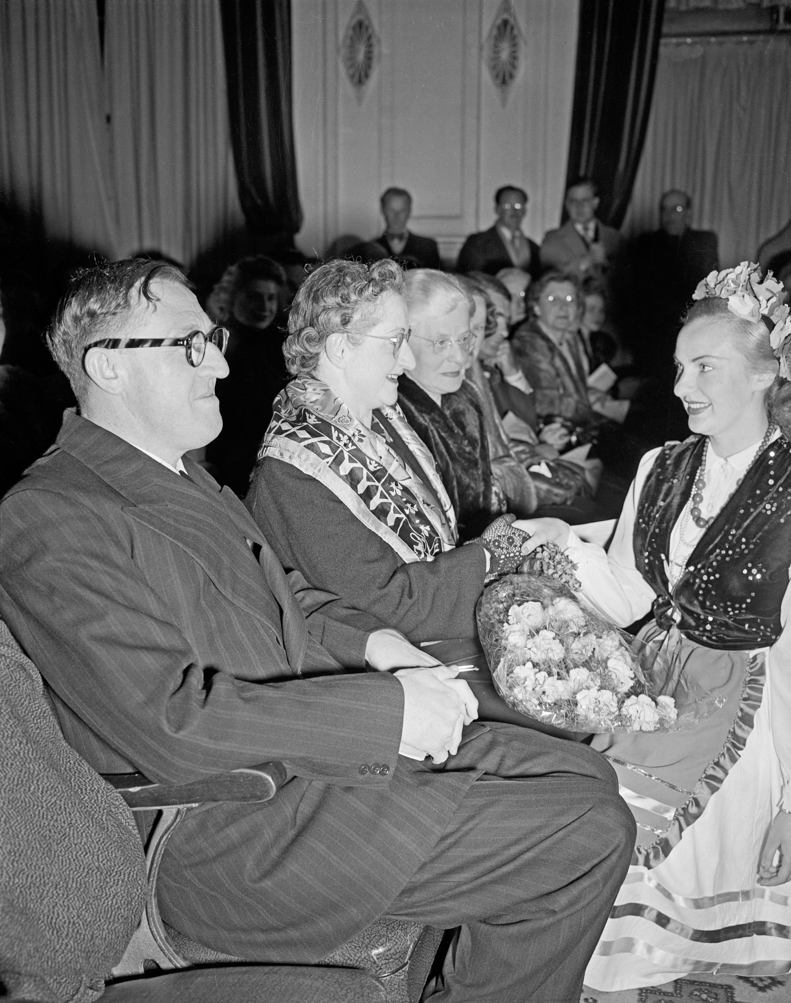
[[[653,614],[709,648],[745,651],[780,636],[791,564],[791,442],[770,442],[698,541],[671,590],[671,533],[690,498],[704,436],[666,446],[645,479],[634,521],[637,570],[656,593]]]

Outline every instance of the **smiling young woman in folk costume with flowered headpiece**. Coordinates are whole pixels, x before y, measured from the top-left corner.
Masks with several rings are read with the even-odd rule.
[[[555,520],[592,603],[664,643],[718,709],[690,731],[595,735],[637,822],[585,982],[791,971],[791,319],[757,266],[713,272],[676,345],[693,435],[646,453],[605,554]],[[528,528],[530,522],[525,524]]]

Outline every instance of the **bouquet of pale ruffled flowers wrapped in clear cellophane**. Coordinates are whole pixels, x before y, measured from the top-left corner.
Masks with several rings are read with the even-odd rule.
[[[498,692],[545,724],[676,731],[714,709],[681,678],[672,650],[615,627],[553,578],[508,575],[484,591],[476,614]]]

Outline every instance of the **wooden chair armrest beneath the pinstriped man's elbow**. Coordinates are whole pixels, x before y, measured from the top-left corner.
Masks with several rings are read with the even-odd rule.
[[[214,801],[268,801],[286,782],[286,768],[282,762],[263,762],[190,783],[154,783],[143,773],[103,773],[102,778],[133,811],[140,811]]]

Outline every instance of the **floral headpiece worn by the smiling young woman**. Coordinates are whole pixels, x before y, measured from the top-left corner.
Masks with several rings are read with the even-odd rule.
[[[710,272],[698,284],[694,300],[718,297],[728,300],[728,309],[745,320],[764,319],[769,328],[772,351],[780,362],[780,375],[791,379],[791,311],[783,303],[783,283],[772,277],[771,272],[761,282],[761,269],[752,262],[743,261],[736,268],[724,272]]]

